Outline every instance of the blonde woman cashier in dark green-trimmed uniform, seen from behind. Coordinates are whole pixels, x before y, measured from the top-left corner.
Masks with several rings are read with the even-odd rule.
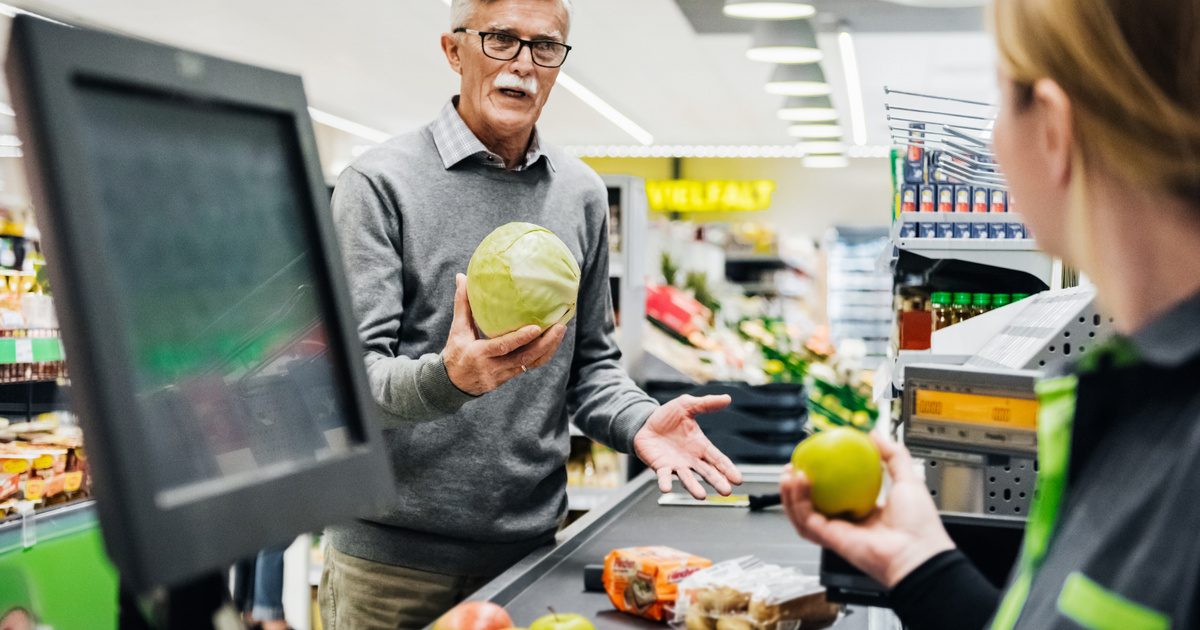
[[[1200,628],[1200,0],[997,0],[995,151],[1039,245],[1121,331],[1039,386],[1038,490],[997,592],[954,548],[904,446],[862,523],[800,535],[892,592],[914,630]]]

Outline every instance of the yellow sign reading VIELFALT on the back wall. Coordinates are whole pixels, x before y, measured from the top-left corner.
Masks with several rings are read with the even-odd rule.
[[[658,180],[646,182],[650,210],[664,212],[752,212],[770,208],[772,180]]]

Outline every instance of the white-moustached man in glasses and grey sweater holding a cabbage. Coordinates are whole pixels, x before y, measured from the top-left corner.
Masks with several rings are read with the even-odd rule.
[[[619,365],[608,294],[607,194],[534,128],[570,47],[568,0],[454,0],[442,36],[461,94],[428,126],[346,169],[334,212],[372,391],[388,412],[391,510],[330,528],[326,629],[419,628],[534,548],[566,510],[568,415],[635,452],[664,492],[737,468],[695,415],[727,397],[659,407]],[[467,269],[492,229],[527,221],[580,263],[577,316],[485,340]]]

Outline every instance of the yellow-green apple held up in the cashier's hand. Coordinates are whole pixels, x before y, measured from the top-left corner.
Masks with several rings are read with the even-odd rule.
[[[883,467],[866,433],[850,427],[816,433],[796,446],[792,468],[809,479],[821,514],[860,520],[875,510]]]

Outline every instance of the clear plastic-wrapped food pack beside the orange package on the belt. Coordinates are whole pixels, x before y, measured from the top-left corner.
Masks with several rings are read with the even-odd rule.
[[[811,630],[838,620],[815,576],[754,557],[715,564],[679,584],[673,624],[686,630]]]

